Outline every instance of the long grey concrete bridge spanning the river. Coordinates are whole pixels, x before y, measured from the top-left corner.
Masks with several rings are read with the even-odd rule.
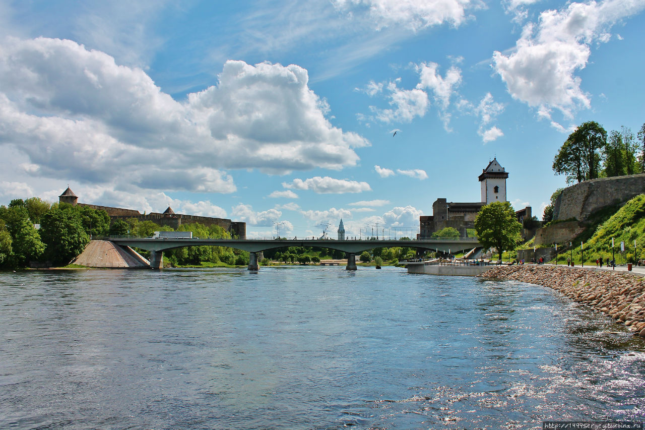
[[[241,249],[250,252],[248,269],[257,271],[258,253],[283,247],[319,247],[335,249],[347,255],[348,271],[356,270],[356,254],[373,248],[410,247],[442,252],[470,251],[481,248],[477,238],[417,239],[417,240],[330,240],[330,239],[174,239],[174,238],[110,238],[117,245],[150,251],[150,267],[160,269],[163,251],[167,249],[199,246],[216,246]]]

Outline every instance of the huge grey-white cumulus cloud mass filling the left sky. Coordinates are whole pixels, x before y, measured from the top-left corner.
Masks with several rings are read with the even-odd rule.
[[[0,146],[25,154],[35,177],[233,192],[224,169],[356,165],[368,141],[327,110],[297,65],[227,61],[217,85],[176,101],[141,68],[74,41],[0,44]]]

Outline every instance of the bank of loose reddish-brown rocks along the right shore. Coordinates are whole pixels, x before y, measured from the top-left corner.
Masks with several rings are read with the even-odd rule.
[[[645,337],[645,278],[624,272],[564,266],[499,266],[480,278],[517,280],[551,287],[576,302],[604,312]]]

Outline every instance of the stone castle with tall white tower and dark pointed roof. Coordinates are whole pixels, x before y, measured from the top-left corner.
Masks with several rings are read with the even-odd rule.
[[[499,164],[497,158],[488,163],[479,175],[481,201],[469,203],[448,202],[439,198],[432,204],[432,215],[419,217],[421,230],[417,239],[432,238],[432,234],[446,227],[453,227],[459,231],[462,238],[468,236],[468,229],[475,228],[475,217],[482,207],[493,201],[506,200],[506,179],[508,172]],[[517,221],[522,223],[525,218],[531,218],[531,207],[515,212]]]

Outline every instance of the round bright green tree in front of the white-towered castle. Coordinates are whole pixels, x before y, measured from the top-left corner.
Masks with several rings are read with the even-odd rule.
[[[475,230],[484,248],[495,248],[502,260],[502,252],[512,251],[520,240],[522,225],[517,222],[515,210],[508,201],[493,201],[482,207],[475,218]]]

